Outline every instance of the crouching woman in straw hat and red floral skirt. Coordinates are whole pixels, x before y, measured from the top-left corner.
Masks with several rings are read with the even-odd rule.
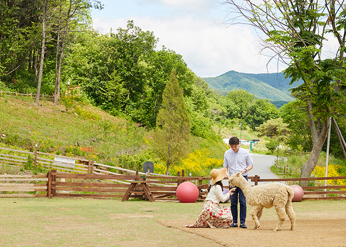
[[[226,175],[226,168],[212,169],[210,176],[212,183],[208,188],[208,196],[203,205],[202,212],[193,225],[185,227],[210,227],[210,228],[228,228],[233,222],[231,209],[228,206],[220,206],[219,202],[225,202],[229,195],[233,195],[232,188],[228,193],[223,194],[222,179]]]

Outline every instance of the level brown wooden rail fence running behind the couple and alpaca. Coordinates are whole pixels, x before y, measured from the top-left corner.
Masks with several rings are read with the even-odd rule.
[[[203,182],[211,177],[183,177],[183,176],[146,176],[146,175],[112,175],[112,174],[77,174],[62,173],[55,170],[48,171],[47,175],[0,175],[0,197],[92,197],[92,198],[125,198],[131,182],[136,186],[129,193],[128,198],[142,198],[149,201],[176,200],[177,186],[184,181],[197,180],[199,198],[204,200],[208,184]],[[261,179],[259,176],[249,176],[255,182],[288,182],[309,181],[325,179],[343,179],[343,177],[318,177],[318,178],[286,178],[286,179]],[[127,183],[119,183],[119,181]],[[148,198],[143,184],[149,185],[152,199]],[[328,191],[321,191],[328,189]],[[344,189],[344,190],[341,190]],[[346,186],[309,186],[303,187],[303,200],[335,200],[346,199]],[[30,194],[24,194],[24,193]],[[320,195],[339,195],[319,197]],[[311,197],[315,196],[315,197]]]

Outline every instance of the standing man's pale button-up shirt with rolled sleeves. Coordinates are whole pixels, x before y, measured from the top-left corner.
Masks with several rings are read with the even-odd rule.
[[[229,175],[244,170],[249,165],[253,165],[253,160],[249,151],[239,147],[238,152],[234,152],[232,149],[228,149],[223,157],[223,166],[228,167]],[[248,175],[248,172],[244,172],[243,176]]]

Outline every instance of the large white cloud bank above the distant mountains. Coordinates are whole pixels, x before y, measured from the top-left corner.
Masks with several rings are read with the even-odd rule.
[[[160,0],[169,4],[169,0]],[[177,0],[176,5],[192,4],[194,0]],[[203,2],[210,2],[205,0]],[[173,4],[173,3],[172,3]],[[185,6],[187,6],[185,5]],[[259,55],[259,41],[249,26],[224,28],[210,17],[183,16],[129,16],[128,18],[93,18],[94,27],[102,27],[103,33],[126,28],[127,21],[143,31],[152,31],[159,38],[157,49],[162,45],[183,56],[187,66],[200,77],[215,77],[230,70],[243,73],[267,73],[269,58]],[[279,71],[282,68],[279,68]],[[277,71],[270,63],[269,73]]]

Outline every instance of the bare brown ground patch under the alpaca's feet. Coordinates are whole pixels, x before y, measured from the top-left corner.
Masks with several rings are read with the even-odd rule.
[[[286,220],[281,229],[274,232],[277,220],[260,221],[259,229],[255,223],[246,221],[248,229],[228,228],[185,228],[192,224],[186,220],[157,220],[162,225],[173,227],[191,234],[215,241],[226,247],[346,247],[346,218],[340,219],[297,219],[296,228],[290,231],[290,221]]]

